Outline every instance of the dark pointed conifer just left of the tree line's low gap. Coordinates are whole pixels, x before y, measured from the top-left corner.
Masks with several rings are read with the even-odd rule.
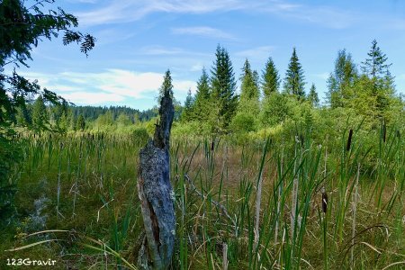
[[[290,63],[288,64],[288,69],[285,73],[284,92],[295,95],[299,100],[304,99],[304,79],[302,66],[294,48],[293,55],[290,59]]]

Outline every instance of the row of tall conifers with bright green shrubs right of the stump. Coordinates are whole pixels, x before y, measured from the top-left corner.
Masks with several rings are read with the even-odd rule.
[[[226,49],[217,47],[210,74],[205,68],[196,93],[188,92],[181,120],[199,122],[200,132],[227,134],[252,131],[285,121],[296,107],[352,110],[367,121],[392,118],[392,107],[401,107],[395,95],[391,64],[373,40],[367,58],[358,70],[346,49],[338,51],[334,70],[327,81],[327,103],[320,106],[316,86],[306,94],[304,70],[295,48],[282,80],[273,58],[268,58],[261,74],[246,59],[236,94],[237,79]],[[398,107],[398,106],[397,106]]]

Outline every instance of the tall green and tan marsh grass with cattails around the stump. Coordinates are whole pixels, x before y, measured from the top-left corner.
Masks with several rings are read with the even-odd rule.
[[[400,269],[405,150],[396,127],[381,130],[348,126],[340,148],[330,149],[298,127],[282,141],[243,146],[225,138],[174,138],[172,268]],[[135,267],[143,226],[136,179],[145,140],[76,133],[23,141],[18,215],[1,243],[14,251],[2,261],[35,250],[72,268]],[[43,234],[58,241],[30,246],[40,240],[19,220],[30,217],[43,195],[49,198]]]

